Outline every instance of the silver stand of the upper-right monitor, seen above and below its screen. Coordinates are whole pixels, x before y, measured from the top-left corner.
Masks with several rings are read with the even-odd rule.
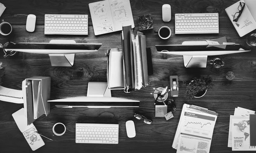
[[[207,41],[184,41],[183,45],[208,45]],[[207,55],[183,55],[184,66],[186,68],[201,67],[206,68]]]

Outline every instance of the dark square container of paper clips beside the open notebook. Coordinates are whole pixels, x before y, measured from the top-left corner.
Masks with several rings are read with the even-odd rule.
[[[151,14],[138,16],[139,30],[153,29],[153,18]]]

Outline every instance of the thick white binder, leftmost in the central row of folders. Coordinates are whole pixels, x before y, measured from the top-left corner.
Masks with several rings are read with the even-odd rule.
[[[107,53],[107,80],[109,89],[124,89],[124,68],[122,51],[118,48],[110,49]]]

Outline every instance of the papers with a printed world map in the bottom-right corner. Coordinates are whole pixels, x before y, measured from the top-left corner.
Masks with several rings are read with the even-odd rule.
[[[236,150],[256,150],[256,115],[255,111],[241,107],[235,108],[230,115],[230,127],[227,147]]]

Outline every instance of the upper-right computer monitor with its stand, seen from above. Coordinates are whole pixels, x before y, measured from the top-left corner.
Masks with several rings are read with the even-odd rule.
[[[195,45],[156,45],[156,48],[158,53],[183,55],[184,66],[186,68],[206,67],[208,55],[225,55],[250,51],[250,49],[247,49],[240,44],[226,45],[225,49],[220,48],[217,45],[208,46],[208,44],[204,43]]]

